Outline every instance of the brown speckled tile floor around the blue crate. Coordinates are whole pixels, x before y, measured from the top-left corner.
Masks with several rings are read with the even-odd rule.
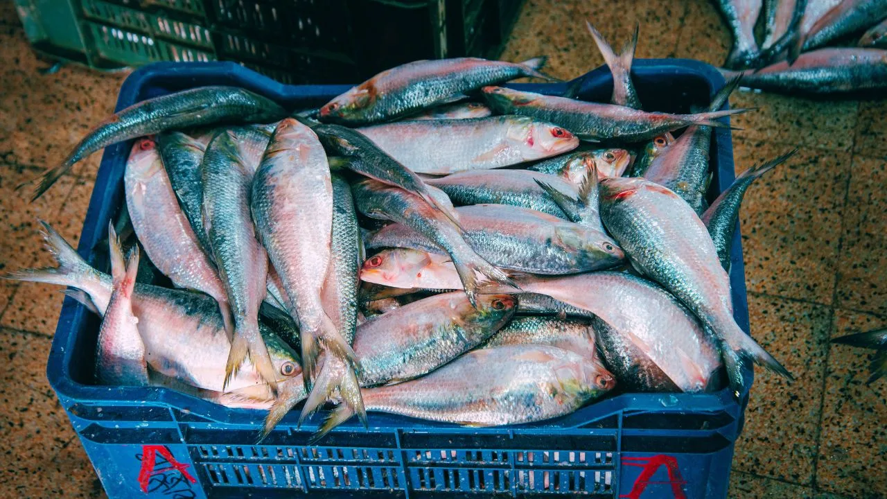
[[[582,22],[621,44],[640,21],[639,57],[718,64],[729,37],[705,0],[528,0],[504,59],[550,56],[569,78],[602,63]],[[80,232],[99,154],[39,202],[15,191],[109,114],[125,75],[38,70],[10,3],[0,3],[0,270],[48,264],[35,218]],[[867,386],[866,352],[828,339],[887,324],[887,100],[816,101],[742,91],[759,107],[734,125],[737,173],[801,147],[750,189],[742,241],[752,334],[797,376],[759,373],[736,446],[730,497],[887,496],[887,381]],[[0,281],[2,497],[104,493],[45,378],[59,290]]]

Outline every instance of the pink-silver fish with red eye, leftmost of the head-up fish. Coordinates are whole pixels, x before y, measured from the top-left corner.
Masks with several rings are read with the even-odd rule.
[[[145,254],[178,288],[208,294],[233,333],[231,307],[216,265],[207,257],[173,192],[152,139],[133,144],[123,174],[126,206]]]

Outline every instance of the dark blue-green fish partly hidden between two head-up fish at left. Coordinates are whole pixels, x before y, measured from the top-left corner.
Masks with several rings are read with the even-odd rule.
[[[188,218],[200,249],[209,257],[212,249],[207,227],[203,225],[203,179],[200,177],[200,163],[207,146],[181,131],[164,131],[157,134],[157,147],[182,213]]]

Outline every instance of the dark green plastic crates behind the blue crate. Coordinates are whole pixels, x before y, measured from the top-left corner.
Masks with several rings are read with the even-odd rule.
[[[37,51],[99,69],[232,60],[281,83],[496,58],[520,0],[15,0]]]

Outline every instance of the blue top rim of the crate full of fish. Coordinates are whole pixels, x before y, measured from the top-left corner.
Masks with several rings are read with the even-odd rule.
[[[652,73],[654,71],[657,74],[668,72],[673,73],[674,75],[687,75],[687,73],[689,72],[695,73],[699,76],[703,76],[707,81],[715,85],[716,88],[719,88],[725,83],[723,75],[721,75],[716,68],[710,66],[709,64],[693,59],[636,59],[634,64],[632,65],[632,71],[633,73],[639,75],[643,75],[644,73],[648,72]],[[236,80],[239,84],[244,84],[247,83],[247,80],[251,80],[247,84],[244,84],[244,86],[254,89],[255,87],[261,86],[264,89],[264,92],[260,91],[260,93],[288,94],[291,93],[293,89],[298,89],[299,96],[301,98],[321,98],[327,96],[330,93],[341,93],[342,91],[346,91],[351,86],[348,84],[287,85],[284,83],[276,82],[267,76],[258,74],[255,71],[252,71],[246,67],[242,67],[235,62],[229,61],[188,63],[157,62],[137,68],[126,78],[126,80],[122,84],[115,111],[119,111],[123,107],[128,107],[131,104],[136,103],[139,100],[139,92],[146,83],[150,83],[155,78],[169,78],[176,77],[177,75],[183,78],[194,78],[200,77],[201,75],[228,75],[231,76],[233,80]],[[579,80],[582,81],[580,86],[581,92],[585,91],[585,89],[589,88],[592,85],[600,84],[602,81],[612,81],[612,77],[607,67],[598,67],[597,69],[594,69],[593,71],[586,73],[585,75],[580,75],[576,79],[566,83],[530,83],[529,87],[527,86],[528,83],[512,83],[508,86],[512,86],[518,89],[529,88],[533,91],[538,91],[541,93],[558,93],[564,91],[568,84],[577,82]],[[715,88],[710,88],[710,94],[713,94],[715,90]],[[729,129],[718,128],[714,130],[713,142],[718,142],[718,164],[723,164],[721,162],[722,159],[727,159],[731,163],[733,162],[733,147],[729,134]],[[726,140],[724,140],[725,136]],[[114,156],[116,153],[115,148],[125,147],[126,144],[128,144],[128,142],[106,148],[102,157],[98,176],[95,180],[94,190],[104,188],[109,182],[107,173],[103,176],[102,170],[105,170],[105,172],[107,172],[110,168],[112,168],[112,156]],[[726,186],[729,186],[734,180],[733,170],[724,171],[723,173],[724,175],[718,175],[718,192],[722,192],[726,188]],[[80,254],[81,257],[87,259],[88,261],[90,259],[90,251],[94,247],[93,240],[96,237],[96,234],[94,233],[96,232],[96,230],[98,230],[98,226],[100,226],[100,224],[90,227],[85,224],[85,220],[89,220],[90,215],[98,214],[98,210],[100,209],[99,204],[101,203],[101,201],[102,200],[97,199],[95,196],[92,196],[90,198],[90,206],[87,210],[86,218],[84,218],[82,235],[77,248],[78,254]],[[746,292],[744,268],[742,265],[742,244],[740,242],[739,230],[737,230],[734,234],[734,241],[732,242],[731,251],[731,257],[733,260],[733,267],[730,272],[731,284],[733,289],[736,289],[736,292],[741,293],[742,298],[745,298]],[[737,284],[739,285],[738,288]],[[736,309],[736,313],[741,316],[747,317],[748,311],[746,300],[743,299],[742,303],[734,304],[734,308]],[[155,405],[158,407],[165,407],[168,410],[180,409],[187,412],[188,414],[191,414],[192,416],[198,416],[202,419],[206,419],[208,422],[243,424],[251,427],[262,424],[264,411],[259,411],[255,409],[223,408],[222,406],[218,406],[206,400],[196,399],[192,396],[170,390],[168,388],[117,387],[81,384],[75,382],[71,378],[71,376],[69,376],[70,358],[69,356],[66,356],[65,352],[68,348],[74,348],[75,335],[72,334],[74,332],[72,328],[73,324],[82,321],[84,319],[84,314],[86,313],[89,313],[86,308],[82,305],[79,305],[74,299],[70,297],[65,298],[59,316],[59,322],[55,330],[54,337],[52,339],[51,352],[47,360],[46,376],[53,390],[58,394],[59,398],[63,400],[63,408],[65,408],[66,410],[68,408],[67,406],[71,405],[73,402],[82,405]],[[743,329],[746,330],[746,333],[748,333],[749,331],[747,328],[747,319],[744,320],[744,323],[743,321],[739,322]],[[750,368],[747,370],[749,371],[747,373],[747,376],[752,379],[753,370]],[[750,385],[751,383],[749,384],[749,387]],[[675,399],[678,399],[679,401],[675,402]],[[610,397],[605,400],[594,402],[590,406],[580,408],[579,410],[568,416],[561,416],[559,418],[531,424],[515,424],[493,427],[487,430],[501,432],[502,430],[520,430],[531,428],[546,428],[546,431],[575,429],[587,422],[586,419],[580,419],[577,417],[577,415],[581,415],[583,412],[585,412],[586,409],[590,407],[597,408],[597,410],[600,410],[601,408],[606,408],[609,416],[615,414],[622,415],[626,411],[648,411],[651,405],[655,405],[657,412],[717,413],[730,411],[738,412],[738,417],[742,418],[742,412],[739,412],[736,409],[744,411],[744,407],[748,403],[748,399],[749,392],[744,392],[742,393],[741,400],[734,400],[734,397],[729,392],[729,388],[725,388],[724,390],[721,390],[719,392],[710,393],[623,393],[615,397]],[[227,416],[226,418],[220,419],[218,417],[211,416],[212,413],[219,412],[220,408],[222,409],[222,413]],[[600,417],[598,417],[598,419],[600,419]],[[446,428],[461,429],[461,427],[456,424],[426,422],[406,416],[380,416],[374,414],[370,416],[371,424],[373,420],[387,421],[390,424],[384,426],[371,425],[372,429],[402,427],[402,423],[406,423],[408,426],[410,426],[411,431],[440,431]],[[170,421],[177,421],[177,419],[172,417]],[[284,422],[287,422],[287,418],[284,419]],[[475,429],[473,429],[473,431],[474,430]],[[481,430],[483,431],[483,429]]]

